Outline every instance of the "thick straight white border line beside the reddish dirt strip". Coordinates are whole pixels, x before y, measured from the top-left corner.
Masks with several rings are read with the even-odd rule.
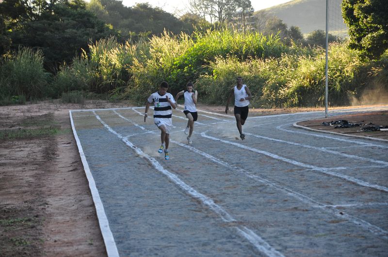
[[[74,126],[71,110],[69,111],[69,114],[70,114],[71,128],[73,130],[73,134],[77,142],[78,151],[80,152],[83,169],[85,170],[86,178],[89,182],[90,192],[92,194],[93,202],[96,207],[98,224],[100,226],[102,238],[104,240],[106,252],[109,257],[116,257],[116,256],[118,257],[119,255],[117,251],[116,242],[114,242],[113,234],[112,234],[111,228],[109,227],[108,218],[106,216],[104,206],[102,204],[100,195],[96,187],[96,181],[94,181],[92,172],[90,172],[89,164],[86,160],[85,154],[83,153],[81,142]]]

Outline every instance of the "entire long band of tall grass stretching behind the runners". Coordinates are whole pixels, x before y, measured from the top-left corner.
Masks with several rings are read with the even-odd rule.
[[[175,94],[194,81],[200,99],[223,104],[236,76],[253,92],[252,106],[322,106],[325,53],[322,47],[285,45],[258,32],[207,30],[189,36],[164,32],[150,40],[101,39],[89,52],[63,64],[55,76],[43,67],[41,51],[21,48],[0,67],[0,95],[27,99],[60,97],[73,91],[109,93],[112,99],[144,104],[163,80]],[[329,104],[346,105],[371,87],[387,87],[388,53],[363,61],[345,43],[329,46]],[[17,99],[16,99],[17,100]]]

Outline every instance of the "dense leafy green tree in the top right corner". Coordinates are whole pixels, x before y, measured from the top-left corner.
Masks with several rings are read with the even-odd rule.
[[[377,60],[388,49],[387,0],[343,0],[342,16],[349,27],[349,47]]]

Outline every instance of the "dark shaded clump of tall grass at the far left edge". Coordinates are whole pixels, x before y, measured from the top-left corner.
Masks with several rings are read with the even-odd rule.
[[[50,75],[43,68],[43,53],[31,48],[19,48],[0,60],[0,98],[27,100],[51,96]]]

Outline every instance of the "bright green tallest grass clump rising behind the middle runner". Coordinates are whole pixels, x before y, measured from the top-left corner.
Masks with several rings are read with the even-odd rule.
[[[174,36],[165,32],[150,40],[150,56],[146,61],[135,58],[129,72],[133,75],[126,95],[137,103],[155,91],[163,80],[176,93],[190,80],[210,74],[211,63],[220,58],[236,61],[280,57],[287,51],[276,36],[263,36],[257,32],[239,33],[233,30],[207,30],[204,34]]]

